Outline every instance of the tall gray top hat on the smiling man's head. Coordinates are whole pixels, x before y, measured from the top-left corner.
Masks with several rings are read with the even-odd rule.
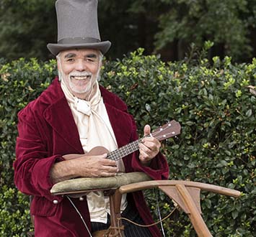
[[[48,44],[53,55],[63,50],[89,48],[105,54],[111,42],[101,41],[97,0],[57,0],[58,43]]]

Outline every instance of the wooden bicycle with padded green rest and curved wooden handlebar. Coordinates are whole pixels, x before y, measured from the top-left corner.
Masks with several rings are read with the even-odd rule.
[[[216,192],[238,198],[241,192],[226,187],[208,185],[201,182],[182,180],[151,180],[142,172],[125,173],[115,177],[78,178],[66,180],[53,185],[50,192],[53,195],[71,195],[76,198],[86,195],[87,192],[101,190],[110,198],[110,228],[106,231],[93,233],[97,237],[124,237],[120,220],[120,201],[123,193],[159,188],[169,198],[175,201],[187,213],[198,236],[212,236],[201,216],[200,190]]]

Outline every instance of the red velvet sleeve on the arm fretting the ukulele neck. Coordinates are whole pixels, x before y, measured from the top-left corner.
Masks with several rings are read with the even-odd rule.
[[[132,129],[132,140],[138,139],[138,134],[136,132],[136,123],[133,119],[133,129]],[[164,157],[161,152],[152,159],[149,167],[141,164],[138,159],[139,152],[134,152],[132,157],[132,168],[134,172],[145,172],[154,180],[167,180],[169,178],[169,166],[166,157]]]

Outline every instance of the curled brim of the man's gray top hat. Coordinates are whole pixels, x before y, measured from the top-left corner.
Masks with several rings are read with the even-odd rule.
[[[48,44],[48,50],[53,55],[58,55],[59,52],[64,50],[74,50],[74,49],[92,49],[92,50],[100,50],[103,55],[110,49],[111,42],[103,41],[103,42],[95,42],[95,43],[82,43],[82,44]]]

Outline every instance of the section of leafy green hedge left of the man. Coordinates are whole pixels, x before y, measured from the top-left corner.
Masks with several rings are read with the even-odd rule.
[[[17,112],[48,87],[54,68],[55,61],[43,63],[22,58],[1,65],[0,236],[3,237],[27,236],[30,230],[28,197],[17,192],[13,182]]]

